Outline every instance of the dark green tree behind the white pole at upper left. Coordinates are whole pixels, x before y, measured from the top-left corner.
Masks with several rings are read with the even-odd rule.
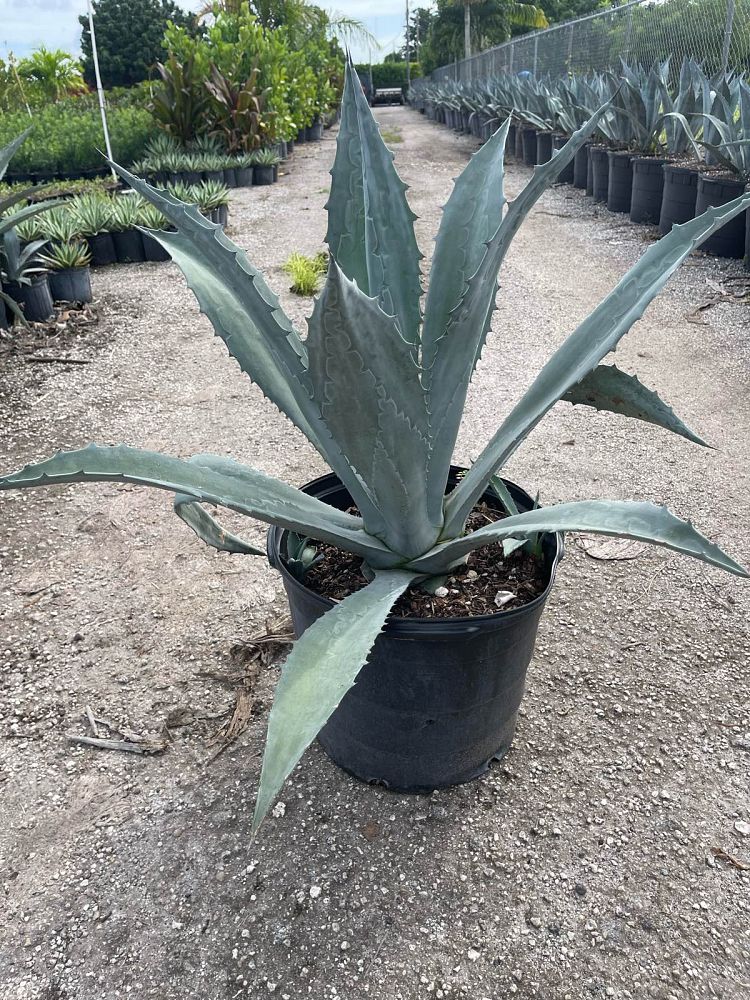
[[[164,30],[168,21],[193,28],[195,18],[173,0],[94,0],[94,30],[104,87],[131,87],[146,80],[152,66],[164,57]],[[78,18],[83,33],[83,75],[94,86],[89,19]]]

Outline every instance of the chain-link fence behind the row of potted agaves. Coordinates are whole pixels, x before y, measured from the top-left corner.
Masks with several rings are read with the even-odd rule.
[[[432,79],[469,82],[528,71],[589,73],[617,70],[620,59],[650,66],[685,57],[706,72],[750,72],[750,0],[632,0],[487,49],[434,70]]]

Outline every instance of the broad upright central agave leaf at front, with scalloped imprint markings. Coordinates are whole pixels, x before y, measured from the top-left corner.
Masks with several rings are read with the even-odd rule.
[[[424,552],[442,522],[427,517],[427,408],[411,345],[333,258],[309,328],[313,399],[375,499],[379,537],[405,556]]]

